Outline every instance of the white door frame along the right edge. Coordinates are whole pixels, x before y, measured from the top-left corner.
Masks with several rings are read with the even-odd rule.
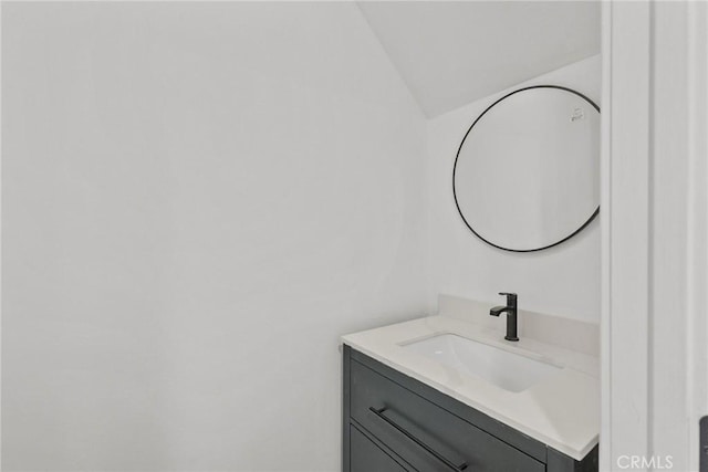
[[[706,8],[603,3],[603,471],[698,470],[708,411]]]

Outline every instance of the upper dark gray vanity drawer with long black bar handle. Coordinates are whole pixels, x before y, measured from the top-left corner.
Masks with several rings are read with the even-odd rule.
[[[545,464],[352,359],[350,416],[421,471],[542,472]]]

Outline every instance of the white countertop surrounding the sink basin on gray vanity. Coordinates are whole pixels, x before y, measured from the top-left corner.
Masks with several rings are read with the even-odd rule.
[[[400,347],[438,334],[456,334],[563,366],[539,384],[512,392]],[[342,336],[342,342],[551,448],[581,460],[600,432],[598,358],[447,316],[428,316]]]

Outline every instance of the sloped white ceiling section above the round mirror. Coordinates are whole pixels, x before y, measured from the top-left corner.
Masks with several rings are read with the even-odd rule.
[[[598,1],[363,1],[428,117],[600,53]]]

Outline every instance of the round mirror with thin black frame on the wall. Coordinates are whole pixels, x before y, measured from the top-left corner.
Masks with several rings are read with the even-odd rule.
[[[501,97],[462,138],[452,189],[485,242],[517,252],[560,244],[600,211],[600,108],[553,85]]]

